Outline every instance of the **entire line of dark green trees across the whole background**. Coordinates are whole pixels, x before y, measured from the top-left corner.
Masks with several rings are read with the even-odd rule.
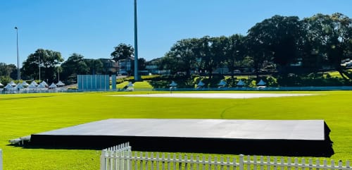
[[[119,44],[111,53],[115,61],[132,56],[134,49],[127,44]],[[191,71],[202,71],[210,79],[216,68],[228,68],[232,75],[239,68],[253,69],[257,75],[262,69],[270,69],[282,76],[330,68],[351,79],[350,73],[341,66],[341,61],[351,57],[352,19],[341,13],[318,13],[303,20],[296,16],[273,16],[254,25],[247,35],[179,40],[165,56],[150,63],[172,73],[183,71],[187,76]],[[80,54],[72,54],[63,61],[58,51],[37,49],[23,62],[21,78],[75,81],[77,74],[108,73],[101,59],[84,59]],[[139,63],[142,70],[146,61],[140,59]],[[291,69],[293,63],[299,63],[300,69]],[[0,63],[0,76],[16,79],[16,69],[13,64]]]

